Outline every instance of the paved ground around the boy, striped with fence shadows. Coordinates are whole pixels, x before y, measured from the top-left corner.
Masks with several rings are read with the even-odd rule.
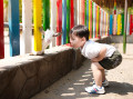
[[[122,52],[122,43],[114,44]],[[68,73],[51,87],[33,96],[31,99],[133,99],[133,44],[127,44],[123,62],[116,69],[105,71],[110,87],[105,95],[90,95],[84,88],[92,85],[90,61]]]

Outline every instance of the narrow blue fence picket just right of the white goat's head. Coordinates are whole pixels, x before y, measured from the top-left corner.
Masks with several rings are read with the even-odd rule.
[[[62,44],[66,43],[66,0],[62,0]]]

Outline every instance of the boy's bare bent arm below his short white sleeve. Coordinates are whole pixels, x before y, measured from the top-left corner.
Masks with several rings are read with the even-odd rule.
[[[105,57],[105,53],[106,53],[106,47],[105,46],[102,46],[101,50],[100,50],[100,53],[98,57],[91,59],[93,62],[98,62],[98,61],[101,61],[104,57]]]

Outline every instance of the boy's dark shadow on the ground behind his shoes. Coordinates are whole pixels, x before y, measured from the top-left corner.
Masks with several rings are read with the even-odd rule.
[[[106,93],[129,95],[133,92],[133,85],[126,82],[110,81],[110,88],[105,88]]]

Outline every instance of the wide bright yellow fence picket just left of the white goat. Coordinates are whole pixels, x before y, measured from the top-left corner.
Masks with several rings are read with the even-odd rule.
[[[41,32],[39,27],[42,27],[42,0],[33,0],[33,21],[34,21],[34,51],[42,50]]]

